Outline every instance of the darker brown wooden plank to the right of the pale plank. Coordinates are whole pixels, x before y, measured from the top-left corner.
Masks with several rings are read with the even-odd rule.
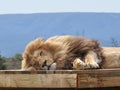
[[[97,70],[79,73],[78,88],[120,86],[120,70]]]

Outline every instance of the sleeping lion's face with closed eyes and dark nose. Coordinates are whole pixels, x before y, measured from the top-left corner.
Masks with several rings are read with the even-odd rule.
[[[52,53],[44,49],[35,50],[31,61],[38,70],[48,70],[54,63]]]

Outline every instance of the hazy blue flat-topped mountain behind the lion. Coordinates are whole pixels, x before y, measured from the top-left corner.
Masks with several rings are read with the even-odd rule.
[[[120,13],[36,13],[0,15],[0,53],[11,57],[22,53],[37,37],[81,35],[111,46],[120,42]]]

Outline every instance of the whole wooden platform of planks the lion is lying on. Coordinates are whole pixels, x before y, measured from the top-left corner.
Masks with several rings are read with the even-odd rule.
[[[0,71],[0,88],[120,87],[120,69]]]

